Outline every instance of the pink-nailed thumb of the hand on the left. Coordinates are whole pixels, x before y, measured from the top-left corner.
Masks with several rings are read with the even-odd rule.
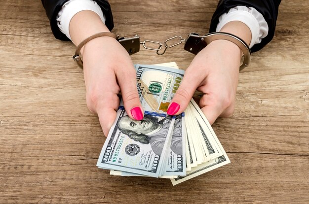
[[[127,114],[132,119],[142,120],[144,117],[144,111],[137,93],[135,69],[129,67],[118,70],[116,76]]]

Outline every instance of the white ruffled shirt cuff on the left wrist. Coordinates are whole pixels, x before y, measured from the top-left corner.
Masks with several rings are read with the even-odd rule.
[[[79,11],[90,10],[98,14],[103,23],[105,23],[105,16],[100,6],[94,0],[68,0],[59,11],[57,15],[57,24],[59,30],[71,39],[69,26],[71,19]]]

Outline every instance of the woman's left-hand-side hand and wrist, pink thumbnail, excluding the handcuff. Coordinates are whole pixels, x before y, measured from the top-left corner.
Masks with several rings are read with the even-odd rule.
[[[80,11],[70,22],[70,36],[76,45],[100,32],[109,30],[92,11]],[[129,54],[117,40],[108,36],[92,39],[84,45],[81,53],[87,106],[98,114],[104,135],[108,136],[116,119],[120,90],[129,117],[142,120],[135,69]]]

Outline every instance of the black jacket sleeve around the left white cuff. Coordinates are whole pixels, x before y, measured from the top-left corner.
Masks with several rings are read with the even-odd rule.
[[[57,39],[69,40],[69,38],[63,34],[57,25],[57,14],[61,10],[63,4],[68,0],[41,0],[45,8],[47,17],[50,22],[51,31]],[[105,15],[105,25],[111,31],[114,28],[114,21],[112,10],[109,2],[107,0],[95,0],[101,7]]]

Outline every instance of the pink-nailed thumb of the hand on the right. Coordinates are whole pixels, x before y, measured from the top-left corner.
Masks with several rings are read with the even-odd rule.
[[[190,100],[192,99],[194,91],[200,84],[200,80],[198,78],[200,77],[196,77],[193,72],[186,71],[176,94],[167,108],[168,115],[179,115],[185,111]]]

